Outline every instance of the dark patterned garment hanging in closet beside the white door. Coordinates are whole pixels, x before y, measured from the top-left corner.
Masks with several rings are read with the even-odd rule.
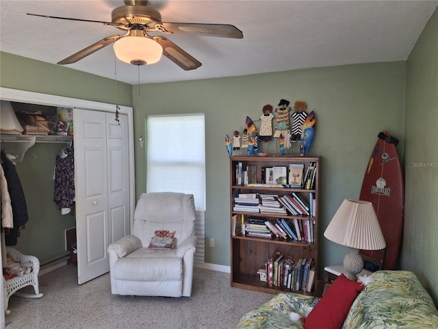
[[[56,156],[55,162],[55,193],[53,201],[66,215],[75,202],[75,156],[73,150],[63,149]]]

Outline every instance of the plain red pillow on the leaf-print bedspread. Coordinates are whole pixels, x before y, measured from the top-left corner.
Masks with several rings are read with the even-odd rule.
[[[324,293],[307,318],[303,319],[306,329],[339,329],[344,324],[351,305],[363,285],[341,274]]]

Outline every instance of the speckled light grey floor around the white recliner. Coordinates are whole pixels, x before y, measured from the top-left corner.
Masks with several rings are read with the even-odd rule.
[[[10,297],[6,329],[231,329],[273,297],[231,288],[229,273],[207,269],[194,269],[192,296],[180,298],[112,295],[108,273],[79,285],[75,265],[40,276],[39,283],[41,298]]]

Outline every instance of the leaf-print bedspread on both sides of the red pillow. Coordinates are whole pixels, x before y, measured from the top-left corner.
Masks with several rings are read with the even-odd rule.
[[[438,328],[438,310],[411,271],[377,271],[353,302],[342,329]],[[318,297],[279,293],[246,313],[237,329],[304,329],[290,313],[307,317]]]

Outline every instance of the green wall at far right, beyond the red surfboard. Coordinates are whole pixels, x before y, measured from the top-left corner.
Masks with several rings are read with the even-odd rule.
[[[438,10],[407,60],[402,268],[438,305]]]

